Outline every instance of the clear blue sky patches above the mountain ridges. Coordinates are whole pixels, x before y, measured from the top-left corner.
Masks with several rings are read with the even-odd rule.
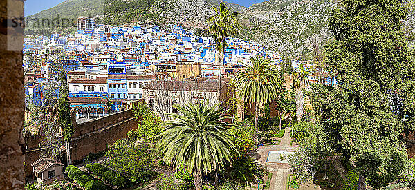
[[[26,0],[24,1],[24,15],[29,16],[48,8],[53,8],[65,0]],[[236,3],[241,6],[252,6],[255,3],[261,3],[266,0],[225,0],[229,3]]]

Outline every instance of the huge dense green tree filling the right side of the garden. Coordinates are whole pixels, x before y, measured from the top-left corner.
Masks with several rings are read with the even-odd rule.
[[[400,0],[340,0],[331,12],[335,36],[326,46],[336,88],[311,95],[322,139],[359,175],[359,189],[394,182],[407,162],[402,134],[415,124],[414,53],[401,30]]]

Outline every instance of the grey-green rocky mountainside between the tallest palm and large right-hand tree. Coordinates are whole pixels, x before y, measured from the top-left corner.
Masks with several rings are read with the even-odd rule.
[[[282,55],[310,52],[308,38],[325,32],[335,3],[330,0],[270,0],[241,11],[243,36]]]

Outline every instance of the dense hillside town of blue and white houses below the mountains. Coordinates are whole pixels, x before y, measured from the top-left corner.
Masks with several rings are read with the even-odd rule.
[[[226,41],[221,77],[227,82],[241,66],[252,64],[252,56],[268,57],[276,66],[283,61],[277,53],[259,44],[238,38]],[[112,103],[111,110],[120,111],[145,99],[148,95],[143,89],[154,80],[185,81],[184,85],[193,86],[192,82],[217,82],[219,75],[217,50],[210,37],[196,35],[181,26],[97,26],[93,19],[80,17],[75,36],[54,33],[50,37],[25,37],[24,55],[34,54],[37,59],[35,66],[31,65],[33,60],[24,62],[28,70],[26,102],[39,106],[57,98],[56,90],[53,96],[46,96],[50,80],[56,78],[51,72],[55,64],[50,54],[57,50],[68,54],[64,67],[71,107],[87,108],[95,115],[105,113],[107,100]],[[294,68],[298,67],[299,61],[289,61]],[[313,68],[311,64],[306,66]],[[308,78],[317,82],[315,72]],[[335,82],[334,77],[326,77],[326,84]]]

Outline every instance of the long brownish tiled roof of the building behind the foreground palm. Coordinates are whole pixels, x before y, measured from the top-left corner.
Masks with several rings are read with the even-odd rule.
[[[225,86],[225,82],[221,82],[221,88]],[[144,89],[148,90],[165,90],[165,91],[218,91],[217,82],[196,82],[196,81],[152,81],[147,84]]]

